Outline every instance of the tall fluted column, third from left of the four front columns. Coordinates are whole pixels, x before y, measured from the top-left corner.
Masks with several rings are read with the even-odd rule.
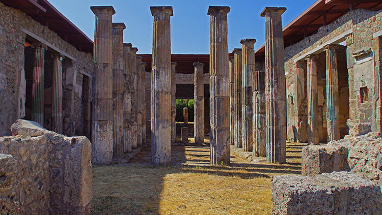
[[[212,165],[230,164],[227,13],[229,7],[209,6],[210,34],[210,158]]]

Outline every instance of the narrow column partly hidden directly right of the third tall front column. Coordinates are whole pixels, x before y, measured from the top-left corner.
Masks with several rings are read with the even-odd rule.
[[[234,94],[234,57],[228,58],[228,73],[230,78],[230,144],[235,144],[235,94]]]

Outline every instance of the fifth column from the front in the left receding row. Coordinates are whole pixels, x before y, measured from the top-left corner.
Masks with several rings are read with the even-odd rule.
[[[137,56],[137,121],[138,121],[138,145],[142,145],[143,118],[142,118],[142,56]]]

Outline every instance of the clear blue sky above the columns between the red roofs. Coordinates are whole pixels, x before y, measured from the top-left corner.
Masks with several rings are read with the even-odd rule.
[[[124,42],[138,47],[140,54],[152,51],[150,6],[172,6],[171,52],[173,54],[208,54],[210,16],[208,6],[229,6],[228,48],[240,48],[239,41],[255,38],[255,50],[264,44],[264,7],[286,7],[283,26],[296,18],[316,0],[48,0],[64,16],[94,40],[94,14],[90,6],[112,5],[113,22],[124,22]]]

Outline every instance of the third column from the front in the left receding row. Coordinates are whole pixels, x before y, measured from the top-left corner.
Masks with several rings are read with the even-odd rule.
[[[133,74],[131,73],[131,60],[130,60],[130,52],[131,52],[131,43],[123,44],[123,58],[125,59],[125,69],[123,71],[124,74],[124,116],[123,116],[123,150],[124,152],[131,152],[132,149],[132,124],[133,124],[133,115],[132,115],[132,86],[133,86]]]

